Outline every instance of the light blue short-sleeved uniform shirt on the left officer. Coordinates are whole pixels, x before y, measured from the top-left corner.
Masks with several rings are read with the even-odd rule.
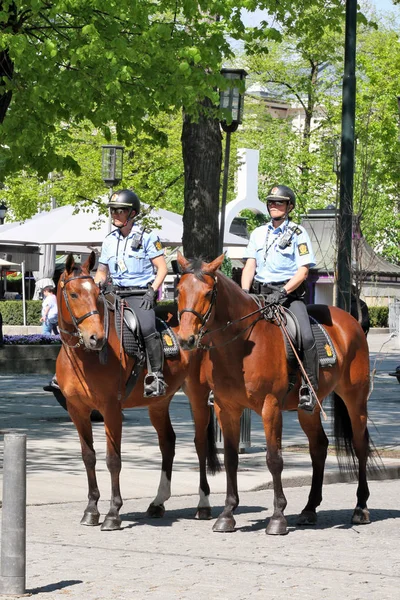
[[[155,273],[150,259],[162,256],[160,239],[153,231],[147,233],[134,225],[127,237],[119,229],[108,234],[101,247],[99,262],[107,265],[114,285],[143,287],[154,281]],[[142,235],[141,246],[132,248],[135,234]]]

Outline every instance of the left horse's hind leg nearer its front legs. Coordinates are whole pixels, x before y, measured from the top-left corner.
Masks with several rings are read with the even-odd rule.
[[[172,465],[175,456],[176,435],[171,425],[169,404],[172,396],[149,406],[150,421],[157,431],[162,455],[161,477],[157,495],[147,509],[147,516],[161,518],[165,514],[164,503],[171,497]]]

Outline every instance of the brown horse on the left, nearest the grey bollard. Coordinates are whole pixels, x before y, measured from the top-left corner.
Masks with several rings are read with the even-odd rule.
[[[123,350],[115,330],[114,319],[109,319],[108,340],[105,338],[105,302],[90,275],[94,266],[92,253],[81,268],[70,255],[61,275],[57,300],[60,335],[63,342],[57,359],[56,374],[60,389],[67,400],[68,412],[78,430],[82,457],[86,467],[89,502],[81,523],[97,525],[100,497],[96,480],[96,455],[93,447],[90,413],[97,409],[104,417],[107,439],[107,467],[111,475],[111,502],[102,530],[119,529],[122,506],[119,475],[121,470],[122,409],[148,406],[150,420],[155,427],[162,453],[162,473],[158,493],[148,508],[148,515],[164,514],[164,502],[171,495],[171,473],[175,454],[175,433],[168,407],[175,392],[183,386],[191,402],[195,423],[195,445],[200,465],[200,501],[196,516],[210,518],[210,488],[207,482],[206,463],[210,471],[218,470],[213,423],[207,399],[210,392],[206,383],[200,383],[198,356],[179,351],[175,358],[165,361],[164,374],[168,388],[165,396],[143,397],[144,373],[139,377],[132,393],[125,396],[125,384],[132,372],[134,359]],[[107,309],[108,310],[108,309]],[[101,364],[100,350],[107,344],[107,362]],[[190,378],[185,382],[187,377]],[[122,392],[122,396],[120,396]],[[120,400],[122,397],[122,400]]]

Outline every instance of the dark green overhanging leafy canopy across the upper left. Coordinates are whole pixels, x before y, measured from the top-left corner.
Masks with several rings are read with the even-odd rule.
[[[162,139],[152,117],[182,107],[196,114],[203,98],[217,103],[230,39],[254,48],[279,37],[270,24],[246,29],[243,8],[294,27],[313,5],[325,19],[343,14],[342,0],[2,0],[0,180],[28,167],[42,177],[79,172],[61,149],[84,120],[106,140],[114,122],[128,146],[133,127]]]

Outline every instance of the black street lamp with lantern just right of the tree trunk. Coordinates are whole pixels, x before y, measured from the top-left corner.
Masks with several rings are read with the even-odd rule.
[[[243,115],[243,84],[241,82],[246,79],[246,71],[244,69],[221,69],[221,75],[231,83],[226,90],[221,90],[219,107],[222,109],[227,118],[221,121],[221,127],[226,133],[225,139],[225,159],[224,159],[224,176],[222,180],[222,200],[221,200],[221,222],[219,226],[218,249],[222,254],[224,248],[225,234],[225,209],[226,197],[228,194],[228,175],[229,175],[229,158],[231,151],[231,133],[235,132],[242,122]]]

